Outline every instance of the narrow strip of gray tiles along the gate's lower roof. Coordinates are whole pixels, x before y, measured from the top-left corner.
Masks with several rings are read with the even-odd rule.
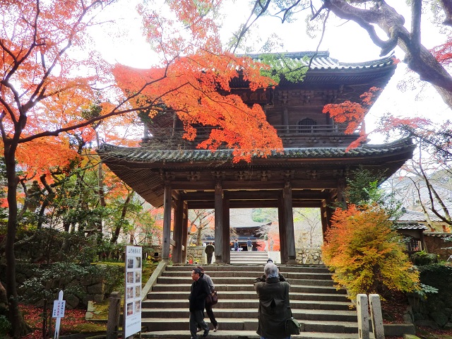
[[[386,143],[384,145],[362,145],[347,151],[347,148],[285,148],[284,153],[272,152],[273,159],[322,159],[353,158],[375,155],[388,155],[412,147],[408,139]],[[203,162],[232,160],[232,151],[227,150],[155,150],[153,148],[126,148],[103,144],[99,153],[107,153],[109,157],[133,162]],[[253,158],[260,157],[254,154]]]

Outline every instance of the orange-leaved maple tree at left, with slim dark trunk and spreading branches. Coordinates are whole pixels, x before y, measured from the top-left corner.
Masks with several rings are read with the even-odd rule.
[[[177,14],[174,18],[164,18],[165,11],[147,16],[147,10],[142,8],[148,41],[166,62],[147,74],[115,67],[118,81],[131,83],[123,83],[121,89],[132,92],[121,92],[114,83],[112,65],[93,49],[89,37],[90,27],[102,25],[98,15],[113,2],[0,2],[0,133],[8,178],[5,275],[14,338],[26,331],[18,311],[14,254],[17,162],[18,168],[26,167],[35,173],[44,172],[49,165],[64,166],[68,157],[78,154],[71,147],[64,147],[73,146],[73,138],[83,136],[86,143],[95,143],[94,129],[99,121],[126,117],[124,126],[131,119],[129,114],[141,108],[138,104],[148,105],[149,100],[150,108],[164,104],[177,109],[189,130],[187,137],[191,124],[219,126],[215,140],[212,138],[203,147],[227,143],[237,149],[237,158],[246,160],[253,153],[266,155],[268,148],[281,147],[261,109],[249,108],[238,97],[222,97],[216,92],[227,88],[236,69],[242,70],[251,88],[268,85],[258,75],[260,66],[222,53],[218,28],[207,15],[221,1],[195,1],[198,6],[183,4],[184,11],[179,11],[180,1],[168,1]],[[106,20],[114,23],[115,19]],[[99,103],[100,112],[87,117],[83,110],[93,102]],[[207,108],[202,109],[201,103]],[[71,131],[76,136],[66,134]]]

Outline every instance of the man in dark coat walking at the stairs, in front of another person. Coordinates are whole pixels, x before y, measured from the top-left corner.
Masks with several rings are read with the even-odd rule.
[[[204,304],[206,304],[206,297],[209,293],[209,286],[206,280],[201,278],[202,272],[199,268],[194,268],[191,271],[190,290],[190,334],[191,339],[197,339],[196,328],[200,327],[204,330],[203,338],[206,338],[209,333],[209,326],[204,321]]]

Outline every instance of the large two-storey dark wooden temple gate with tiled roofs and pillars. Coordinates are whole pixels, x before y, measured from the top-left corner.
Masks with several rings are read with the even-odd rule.
[[[105,144],[98,150],[120,179],[153,206],[164,206],[163,259],[172,249],[174,263],[186,262],[191,208],[215,209],[215,262],[230,263],[230,208],[271,207],[278,208],[281,262],[295,263],[292,208],[319,208],[325,232],[335,203],[345,203],[346,179],[353,170],[361,166],[387,178],[412,157],[415,146],[409,139],[363,143],[346,151],[359,133],[345,134],[344,125],[322,112],[327,104],[360,102],[359,96],[371,87],[384,88],[396,69],[391,57],[346,64],[328,52],[285,54],[302,62],[306,56],[313,59],[304,81],[283,78],[265,95],[263,90],[251,92],[239,73],[230,83],[231,93],[246,104],[262,106],[283,141],[283,154],[233,163],[232,150],[198,150],[208,127],[199,126],[194,142],[183,141],[176,114],[157,115],[148,124],[141,147]]]

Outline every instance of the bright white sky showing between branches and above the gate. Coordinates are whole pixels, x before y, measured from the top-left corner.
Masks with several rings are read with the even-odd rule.
[[[222,34],[226,37],[234,30],[237,30],[239,24],[249,16],[249,8],[244,0],[230,1],[231,5],[225,8],[225,18],[223,21]],[[406,12],[405,1],[387,1],[394,6],[399,13],[405,14],[405,20],[409,26],[410,15]],[[234,3],[234,4],[233,4]],[[141,35],[141,18],[135,11],[138,0],[124,1],[120,0],[110,9],[113,16],[121,17],[119,28],[115,31],[117,36],[112,42],[112,37],[98,35],[96,40],[97,49],[107,59],[108,62],[126,64],[138,68],[148,68],[155,63],[155,54]],[[429,11],[427,8],[426,11]],[[301,16],[300,16],[301,17]],[[300,52],[316,50],[319,44],[319,36],[311,39],[305,33],[304,18],[300,18],[295,23],[280,24],[278,18],[265,18],[258,21],[258,35],[253,39],[246,41],[251,46],[259,46],[258,40],[266,40],[266,37],[275,32],[280,37],[283,47],[274,52]],[[381,37],[386,37],[381,32]],[[252,40],[252,41],[251,41]],[[422,43],[427,48],[432,48],[444,41],[444,35],[439,34],[427,20],[422,22]],[[376,47],[368,37],[367,33],[356,23],[345,20],[331,21],[326,30],[323,41],[319,47],[320,51],[329,51],[330,57],[344,62],[370,61],[379,59],[380,49]],[[258,50],[253,52],[260,52]],[[402,60],[404,53],[401,49],[396,49],[395,55]],[[419,86],[413,86],[419,78],[412,73],[413,80],[408,81],[408,90],[401,92],[398,89],[400,81],[408,76],[405,64],[398,64],[396,74],[386,86],[385,90],[376,101],[374,107],[367,114],[367,131],[374,129],[376,121],[386,112],[402,117],[429,117],[437,121],[446,119],[450,116],[450,109],[441,100],[431,85],[420,90]],[[382,136],[371,135],[371,143],[381,143]]]

